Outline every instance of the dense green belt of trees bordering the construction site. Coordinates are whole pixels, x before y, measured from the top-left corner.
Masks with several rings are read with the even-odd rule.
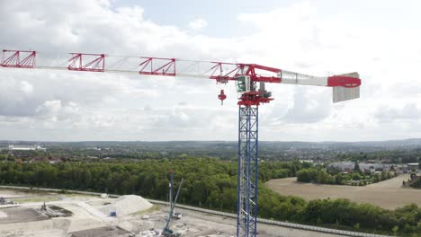
[[[259,164],[258,215],[274,220],[315,224],[371,233],[421,234],[421,207],[404,206],[394,211],[346,199],[305,201],[286,197],[264,187],[266,180],[296,176],[312,165],[306,162]],[[2,185],[55,189],[79,189],[113,194],[137,194],[166,200],[168,171],[175,185],[184,178],[180,202],[235,213],[237,209],[237,162],[215,158],[143,160],[140,162],[0,162]]]

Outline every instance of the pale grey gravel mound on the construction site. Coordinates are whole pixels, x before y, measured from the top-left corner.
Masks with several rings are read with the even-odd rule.
[[[136,195],[125,195],[117,198],[112,204],[99,208],[105,215],[115,212],[117,216],[129,215],[152,207],[145,198]]]

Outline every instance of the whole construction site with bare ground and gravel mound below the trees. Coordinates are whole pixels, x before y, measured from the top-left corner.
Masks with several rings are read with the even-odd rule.
[[[163,234],[169,206],[153,205],[139,196],[22,192],[0,189],[0,236],[111,237]],[[176,209],[173,236],[234,236],[236,219]],[[259,236],[337,236],[271,224],[259,224]]]

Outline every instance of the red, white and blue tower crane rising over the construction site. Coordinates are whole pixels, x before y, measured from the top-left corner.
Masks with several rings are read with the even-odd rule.
[[[217,83],[237,83],[238,97],[238,159],[237,159],[237,236],[257,234],[258,177],[258,108],[273,101],[265,83],[289,83],[333,88],[333,102],[360,97],[361,80],[358,73],[331,76],[304,75],[257,64],[192,61],[167,57],[120,57],[105,54],[71,53],[67,66],[37,65],[37,51],[3,50],[0,67],[32,69],[64,69],[77,72],[134,73],[213,79]],[[118,69],[108,63],[122,58],[136,70]],[[130,60],[129,60],[130,59]],[[106,63],[107,60],[107,63]],[[184,65],[184,67],[182,67]],[[182,68],[182,69],[180,69]],[[227,95],[220,91],[223,102]]]

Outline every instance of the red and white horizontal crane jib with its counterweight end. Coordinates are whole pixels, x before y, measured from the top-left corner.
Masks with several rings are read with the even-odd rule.
[[[352,100],[360,96],[359,89],[361,80],[359,79],[359,75],[357,73],[318,77],[256,64],[191,61],[166,57],[138,57],[139,69],[137,71],[128,71],[106,68],[105,57],[107,57],[107,55],[105,54],[71,53],[71,56],[72,57],[67,60],[67,67],[36,66],[36,51],[4,49],[0,66],[16,68],[67,69],[71,71],[84,72],[128,72],[138,73],[139,75],[209,78],[216,80],[217,83],[237,81],[238,76],[247,75],[252,83],[292,83],[329,86],[333,88],[334,102]],[[204,66],[204,72],[194,73],[192,71],[183,71],[176,68],[176,64],[181,62],[192,62],[192,64],[205,63],[207,66]],[[259,72],[264,72],[264,74],[269,73],[271,75],[261,75]],[[221,98],[225,99],[226,96],[221,96]],[[242,99],[240,98],[240,100]]]

